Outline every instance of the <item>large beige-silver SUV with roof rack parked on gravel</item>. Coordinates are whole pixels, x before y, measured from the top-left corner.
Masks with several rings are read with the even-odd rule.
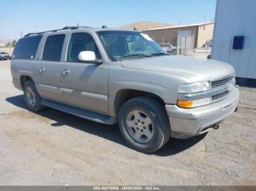
[[[208,132],[238,104],[227,63],[170,56],[140,31],[65,27],[27,34],[12,55],[12,82],[28,109],[44,106],[104,124],[155,152],[170,137]]]

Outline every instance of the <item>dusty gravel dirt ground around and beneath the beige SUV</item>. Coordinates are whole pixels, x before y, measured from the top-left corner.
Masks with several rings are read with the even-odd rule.
[[[256,89],[218,130],[145,155],[117,125],[26,110],[0,61],[0,185],[256,185]]]

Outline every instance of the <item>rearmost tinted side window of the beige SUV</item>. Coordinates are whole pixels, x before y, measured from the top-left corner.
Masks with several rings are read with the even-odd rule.
[[[34,59],[42,35],[29,36],[20,39],[12,54],[13,59]]]

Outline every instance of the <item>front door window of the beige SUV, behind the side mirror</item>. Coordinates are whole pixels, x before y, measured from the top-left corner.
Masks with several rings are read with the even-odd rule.
[[[78,62],[78,54],[82,51],[94,51],[96,58],[100,58],[99,50],[90,34],[76,33],[72,34],[67,50],[67,61]]]

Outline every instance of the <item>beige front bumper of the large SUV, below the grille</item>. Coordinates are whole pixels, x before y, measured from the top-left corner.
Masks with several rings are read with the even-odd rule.
[[[192,109],[183,109],[176,105],[165,105],[169,116],[172,137],[187,139],[206,133],[211,127],[234,112],[237,107],[239,91],[236,87],[227,98],[214,104]]]

